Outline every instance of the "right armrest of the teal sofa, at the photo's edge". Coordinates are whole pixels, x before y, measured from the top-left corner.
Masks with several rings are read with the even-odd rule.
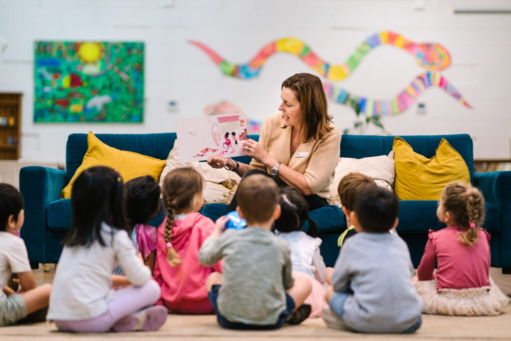
[[[498,266],[511,268],[511,172],[475,173],[474,185],[481,190],[486,202],[497,206],[500,216]]]

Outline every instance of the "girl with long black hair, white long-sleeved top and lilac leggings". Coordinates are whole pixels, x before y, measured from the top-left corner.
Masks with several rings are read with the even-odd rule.
[[[152,306],[160,288],[128,235],[121,175],[102,166],[84,170],[73,185],[71,208],[47,319],[60,331],[158,329],[167,309]],[[119,263],[133,285],[111,292],[111,273]]]

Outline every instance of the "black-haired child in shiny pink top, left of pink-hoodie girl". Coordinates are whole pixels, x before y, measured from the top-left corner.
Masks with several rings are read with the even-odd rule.
[[[135,177],[126,182],[126,218],[132,230],[131,241],[144,258],[144,264],[149,266],[151,274],[154,271],[156,258],[156,228],[147,225],[160,209],[161,189],[150,175]],[[122,275],[122,268],[115,269],[114,274]]]

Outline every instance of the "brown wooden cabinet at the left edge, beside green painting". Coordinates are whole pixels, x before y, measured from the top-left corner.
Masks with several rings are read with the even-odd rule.
[[[20,155],[21,96],[0,93],[0,160],[18,160]]]

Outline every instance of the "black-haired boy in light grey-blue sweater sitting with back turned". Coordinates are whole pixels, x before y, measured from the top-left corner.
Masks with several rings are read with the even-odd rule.
[[[422,300],[412,284],[413,265],[398,224],[399,200],[379,187],[360,192],[350,213],[357,234],[335,262],[323,309],[329,327],[364,333],[411,333],[421,326]]]

